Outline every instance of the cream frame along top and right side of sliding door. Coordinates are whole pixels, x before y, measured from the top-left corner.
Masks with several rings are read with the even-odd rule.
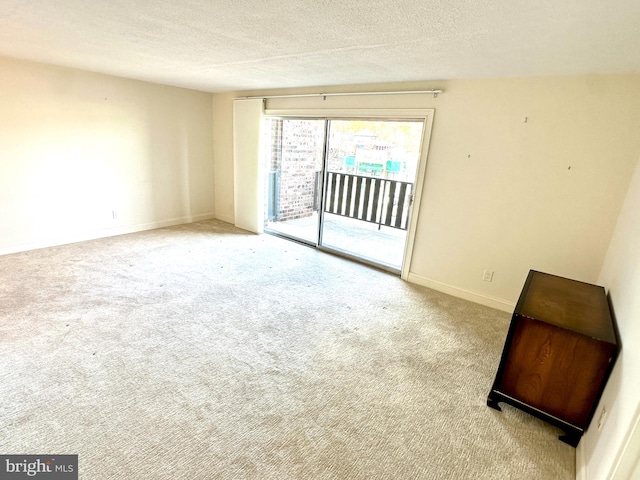
[[[411,205],[410,223],[407,229],[407,241],[405,243],[404,258],[400,270],[400,278],[408,280],[411,268],[411,258],[415,244],[418,216],[422,203],[422,191],[424,188],[425,174],[427,170],[427,159],[429,155],[429,145],[431,143],[431,131],[433,129],[433,108],[295,108],[295,109],[265,109],[265,116],[281,118],[315,118],[318,120],[349,120],[349,119],[370,119],[370,120],[422,120],[422,145],[418,169],[416,172],[416,183]]]

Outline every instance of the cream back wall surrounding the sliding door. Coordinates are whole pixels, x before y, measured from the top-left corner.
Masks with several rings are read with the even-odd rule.
[[[413,90],[267,108],[434,108],[409,279],[510,310],[529,269],[596,283],[640,154],[640,75],[243,92]],[[232,215],[230,94],[214,95],[216,215]],[[525,122],[526,118],[526,122]],[[569,168],[570,167],[570,168]],[[495,271],[483,282],[485,269]]]

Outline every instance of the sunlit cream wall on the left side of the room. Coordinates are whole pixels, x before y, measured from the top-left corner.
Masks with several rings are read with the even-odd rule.
[[[0,253],[213,216],[212,117],[208,93],[0,59]]]

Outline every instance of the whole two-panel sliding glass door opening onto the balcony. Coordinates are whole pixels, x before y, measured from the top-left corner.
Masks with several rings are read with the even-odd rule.
[[[265,230],[400,271],[424,122],[267,123]]]

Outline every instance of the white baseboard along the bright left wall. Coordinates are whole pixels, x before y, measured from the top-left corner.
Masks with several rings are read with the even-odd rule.
[[[142,232],[145,230],[154,230],[156,228],[172,227],[174,225],[183,225],[185,223],[199,222],[201,220],[209,220],[214,218],[213,213],[205,213],[202,215],[185,216],[161,220],[158,222],[139,223],[135,225],[123,225],[118,227],[101,228],[87,232],[74,232],[69,236],[48,238],[36,242],[16,243],[13,245],[0,246],[0,255],[8,255],[10,253],[26,252],[29,250],[37,250],[39,248],[57,247],[69,243],[85,242],[87,240],[95,240],[97,238],[115,237],[117,235],[126,235],[128,233]]]

